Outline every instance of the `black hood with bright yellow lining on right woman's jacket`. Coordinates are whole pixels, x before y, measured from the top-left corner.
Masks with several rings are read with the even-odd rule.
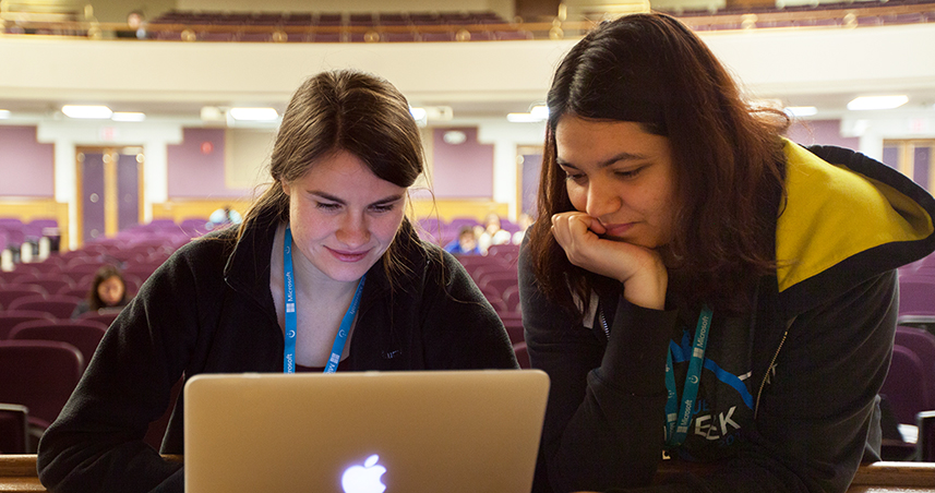
[[[892,168],[840,147],[787,142],[786,156],[776,258],[787,312],[935,249],[935,201]]]

